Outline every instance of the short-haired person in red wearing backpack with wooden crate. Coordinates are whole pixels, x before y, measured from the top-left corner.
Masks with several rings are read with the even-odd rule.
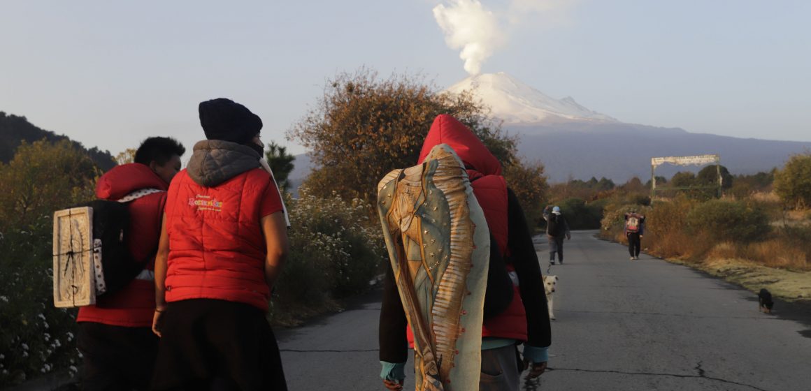
[[[149,387],[158,343],[150,329],[155,311],[152,270],[166,189],[180,170],[185,151],[173,138],[147,138],[135,151],[135,163],[112,168],[96,184],[97,198],[135,198],[127,202],[131,216],[127,249],[143,271],[122,289],[98,296],[95,305],[79,308],[82,389]]]

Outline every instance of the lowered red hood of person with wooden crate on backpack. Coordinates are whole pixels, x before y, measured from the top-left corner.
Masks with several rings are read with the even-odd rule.
[[[118,201],[139,189],[169,189],[160,176],[144,164],[131,163],[115,166],[105,172],[96,184],[96,197]]]

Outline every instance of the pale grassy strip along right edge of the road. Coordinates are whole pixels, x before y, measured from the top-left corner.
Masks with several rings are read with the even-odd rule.
[[[757,293],[761,288],[786,301],[811,303],[811,272],[775,269],[743,259],[710,259],[700,263],[665,259],[679,265],[690,266],[707,274],[740,285]]]

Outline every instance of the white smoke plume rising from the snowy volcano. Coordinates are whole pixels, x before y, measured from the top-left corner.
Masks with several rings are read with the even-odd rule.
[[[434,19],[451,49],[461,49],[469,74],[478,74],[482,63],[507,41],[500,19],[517,26],[527,19],[551,26],[566,19],[565,11],[579,0],[510,0],[500,14],[487,10],[478,0],[446,0],[434,7]],[[539,16],[546,16],[539,18]]]

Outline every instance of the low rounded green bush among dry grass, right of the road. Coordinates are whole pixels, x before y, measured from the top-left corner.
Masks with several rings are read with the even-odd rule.
[[[762,208],[740,201],[702,202],[690,210],[687,222],[693,234],[716,241],[748,243],[770,232],[769,218]]]

